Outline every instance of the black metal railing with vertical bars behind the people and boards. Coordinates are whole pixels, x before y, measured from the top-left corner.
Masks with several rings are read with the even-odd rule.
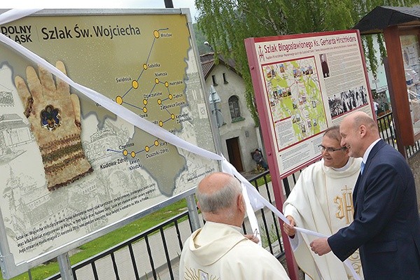
[[[387,113],[384,116],[379,117],[377,123],[381,138],[396,148],[397,140],[395,139],[395,127],[393,125],[392,113]],[[419,151],[419,141],[417,141],[414,146],[405,148],[407,150],[407,156],[410,157],[414,155],[416,151]],[[300,171],[283,179],[286,197],[290,194],[290,190],[293,186],[295,186],[299,174]],[[275,202],[272,199],[274,193],[270,183],[269,171],[259,174],[252,179],[249,179],[249,181],[253,186],[258,186],[259,184],[260,186],[257,188],[258,192],[271,204],[275,205]],[[281,231],[278,218],[272,211],[267,209],[261,209],[256,214],[258,214],[258,220],[260,225],[262,225],[260,226],[260,230],[263,246],[276,256],[276,258],[282,258],[284,256],[284,250],[281,243]],[[243,229],[245,234],[251,232],[251,227],[247,222],[244,222]],[[94,255],[92,258],[88,258],[83,262],[73,265],[72,271],[74,279],[178,279],[176,271],[178,269],[183,242],[190,236],[191,232],[192,226],[189,223],[188,211],[185,211],[160,225],[156,225],[145,232],[141,232],[141,234],[136,235],[121,244]],[[170,246],[168,246],[167,242],[167,237],[169,235],[176,237],[176,241],[173,241]],[[158,238],[158,236],[160,236],[160,238]],[[154,239],[154,244],[151,244],[152,239]],[[156,244],[158,239],[160,239],[160,246]],[[142,244],[142,246],[139,244]],[[125,251],[125,255],[128,255],[127,262],[125,262],[124,265],[118,263],[118,258],[120,258],[120,255],[123,255],[123,253],[120,252],[123,251]],[[119,255],[119,257],[117,258],[116,255]],[[161,257],[162,255],[165,255],[165,258],[158,260],[158,255],[161,255]],[[148,259],[147,265],[146,262],[144,262],[145,258]],[[100,262],[104,262],[106,259],[109,259],[107,261],[109,265],[106,265],[104,268],[104,265],[100,264]],[[143,260],[142,264],[140,263],[141,260]],[[99,276],[98,267],[107,270],[104,278]],[[139,267],[141,267],[142,273],[140,272]],[[90,272],[83,273],[83,270],[90,270]],[[123,276],[123,270],[125,271],[125,276]],[[127,270],[130,271],[131,276],[127,276]],[[145,270],[147,270],[147,272],[145,272]],[[102,274],[104,273],[105,272]],[[90,277],[87,277],[86,275],[89,274]],[[55,274],[48,278],[48,280],[55,279],[60,279],[60,275]]]

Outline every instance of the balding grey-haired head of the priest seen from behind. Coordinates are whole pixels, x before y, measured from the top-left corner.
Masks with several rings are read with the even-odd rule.
[[[235,220],[235,225],[241,225],[245,208],[238,207],[245,205],[241,184],[234,176],[223,172],[210,174],[200,181],[195,195],[206,221],[233,224]]]

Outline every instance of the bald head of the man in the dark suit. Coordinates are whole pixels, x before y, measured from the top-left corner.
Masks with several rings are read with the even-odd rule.
[[[346,146],[353,158],[362,158],[370,144],[380,138],[377,123],[362,111],[346,116],[339,125],[339,133],[341,146]]]

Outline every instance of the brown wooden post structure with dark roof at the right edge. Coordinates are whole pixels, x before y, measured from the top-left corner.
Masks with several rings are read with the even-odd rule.
[[[420,41],[420,6],[389,7],[378,6],[358,22],[354,29],[360,34],[383,33],[388,57],[384,58],[388,90],[391,96],[395,121],[398,151],[405,155],[404,146],[414,145],[420,139],[420,132],[414,132],[410,116],[409,97],[405,78],[401,36],[414,35]],[[417,50],[419,50],[417,45]],[[419,61],[420,67],[420,61]],[[418,73],[420,76],[420,73]],[[403,133],[402,133],[403,132]]]

